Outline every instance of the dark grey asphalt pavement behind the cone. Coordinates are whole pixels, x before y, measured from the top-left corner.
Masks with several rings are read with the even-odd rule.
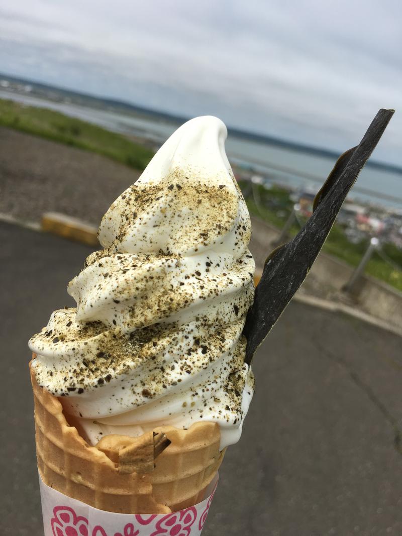
[[[0,534],[42,536],[27,340],[90,248],[0,224]],[[255,356],[205,536],[402,534],[401,340],[293,302]]]

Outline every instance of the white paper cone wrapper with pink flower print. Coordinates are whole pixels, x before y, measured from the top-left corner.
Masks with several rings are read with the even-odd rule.
[[[128,514],[98,510],[47,486],[39,475],[44,536],[198,536],[218,484],[208,486],[204,501],[167,514]]]

